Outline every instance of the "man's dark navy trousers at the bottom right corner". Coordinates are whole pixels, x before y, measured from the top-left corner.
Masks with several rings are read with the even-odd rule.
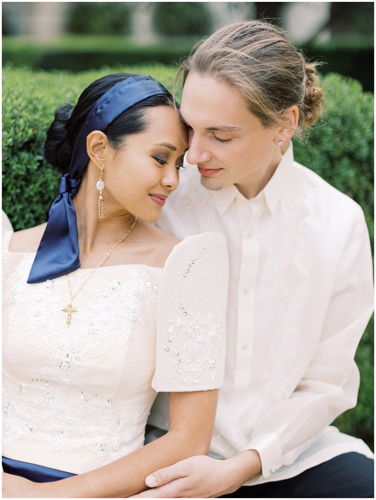
[[[290,479],[241,486],[221,498],[374,498],[373,460],[344,453]]]

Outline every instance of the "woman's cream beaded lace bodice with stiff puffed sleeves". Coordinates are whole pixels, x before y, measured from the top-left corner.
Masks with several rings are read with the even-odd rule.
[[[26,279],[34,253],[3,237],[3,456],[83,473],[134,451],[155,391],[217,388],[224,369],[224,237],[177,244],[165,267],[99,267],[71,301],[66,276]],[[87,269],[70,274],[73,292]]]

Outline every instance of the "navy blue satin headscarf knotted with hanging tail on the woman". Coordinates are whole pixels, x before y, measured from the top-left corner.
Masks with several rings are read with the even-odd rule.
[[[89,161],[86,137],[94,131],[105,131],[123,111],[152,95],[170,95],[151,76],[131,76],[116,83],[100,97],[88,113],[74,143],[69,171],[60,177],[58,196],[49,210],[47,226],[40,240],[28,283],[40,283],[78,269],[79,246],[77,218],[73,196]]]

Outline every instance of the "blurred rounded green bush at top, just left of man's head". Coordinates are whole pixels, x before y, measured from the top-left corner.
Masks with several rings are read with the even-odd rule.
[[[156,2],[153,25],[162,35],[209,34],[211,12],[205,2]]]

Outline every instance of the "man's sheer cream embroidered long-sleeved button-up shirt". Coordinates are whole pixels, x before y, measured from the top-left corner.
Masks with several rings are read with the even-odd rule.
[[[256,449],[262,474],[292,477],[360,439],[329,426],[356,404],[353,357],[373,308],[364,215],[352,199],[293,161],[292,145],[254,198],[208,191],[186,164],[157,224],[182,238],[221,232],[230,255],[225,380],[214,456]],[[149,419],[163,426],[159,412]],[[163,420],[164,419],[164,420]]]

